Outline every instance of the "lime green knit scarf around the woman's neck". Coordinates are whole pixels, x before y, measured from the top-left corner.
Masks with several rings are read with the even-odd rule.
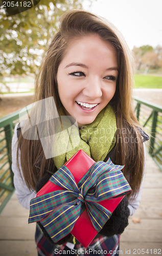
[[[62,112],[61,115],[64,113]],[[68,124],[68,127],[58,135],[57,142],[54,143],[55,152],[65,152],[61,155],[58,153],[56,154],[58,156],[53,158],[57,168],[60,168],[79,150],[83,150],[96,162],[103,161],[115,144],[117,122],[110,105],[107,105],[92,123],[82,126],[79,133],[76,125]]]

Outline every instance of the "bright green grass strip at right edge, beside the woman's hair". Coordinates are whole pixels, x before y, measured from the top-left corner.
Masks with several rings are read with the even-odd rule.
[[[162,89],[162,76],[134,75],[135,88],[160,88]]]

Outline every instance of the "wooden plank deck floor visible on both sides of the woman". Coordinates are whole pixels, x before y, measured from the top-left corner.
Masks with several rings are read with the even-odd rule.
[[[162,254],[162,172],[147,155],[140,207],[121,236],[120,255]],[[13,195],[0,216],[0,255],[36,256],[35,224]],[[140,221],[134,223],[133,221]],[[143,249],[143,250],[142,250]],[[148,249],[148,250],[147,250]]]

